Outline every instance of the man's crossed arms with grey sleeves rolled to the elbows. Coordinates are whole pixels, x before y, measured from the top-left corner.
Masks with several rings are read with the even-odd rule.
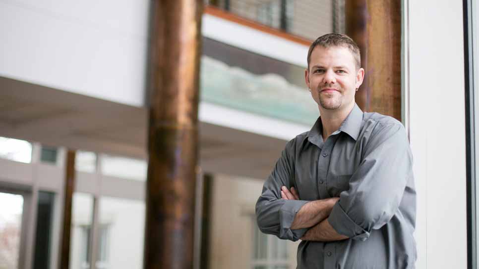
[[[256,203],[260,230],[292,241],[366,240],[371,230],[389,222],[412,177],[412,155],[404,127],[379,127],[364,148],[349,190],[339,198],[300,200],[296,189],[288,190],[297,183],[295,170],[301,168],[295,161],[296,141],[291,140]]]

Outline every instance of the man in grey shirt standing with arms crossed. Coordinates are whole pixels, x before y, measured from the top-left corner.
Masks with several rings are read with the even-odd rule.
[[[364,69],[351,38],[319,37],[307,61],[320,117],[286,144],[265,181],[259,228],[302,240],[299,269],[415,268],[416,191],[404,127],[356,104]]]

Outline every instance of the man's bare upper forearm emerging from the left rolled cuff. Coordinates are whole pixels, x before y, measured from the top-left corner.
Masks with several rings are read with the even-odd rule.
[[[338,198],[311,201],[304,204],[291,224],[292,229],[309,228],[326,219]]]

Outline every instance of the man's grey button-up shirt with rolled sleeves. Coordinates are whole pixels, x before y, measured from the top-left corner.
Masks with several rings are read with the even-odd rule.
[[[320,118],[309,132],[286,144],[256,203],[264,233],[296,241],[307,231],[291,229],[308,201],[340,197],[328,221],[350,237],[301,241],[299,269],[415,268],[416,190],[413,157],[403,125],[363,113],[357,105],[326,141]],[[294,186],[300,200],[281,199]]]

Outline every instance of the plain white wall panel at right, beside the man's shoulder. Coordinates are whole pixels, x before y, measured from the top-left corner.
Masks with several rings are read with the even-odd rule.
[[[417,268],[462,269],[467,267],[462,1],[405,2]]]

